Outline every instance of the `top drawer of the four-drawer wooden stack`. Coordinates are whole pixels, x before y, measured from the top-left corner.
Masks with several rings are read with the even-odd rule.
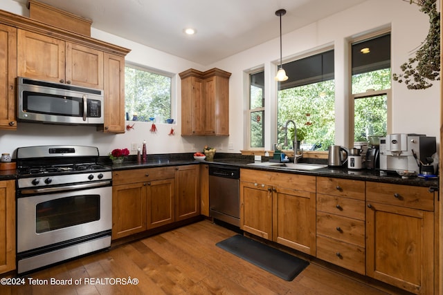
[[[317,178],[317,193],[365,200],[365,182],[341,178]]]

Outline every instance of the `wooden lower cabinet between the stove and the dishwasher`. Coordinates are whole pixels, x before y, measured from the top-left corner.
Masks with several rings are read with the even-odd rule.
[[[199,165],[113,172],[113,240],[200,214]]]

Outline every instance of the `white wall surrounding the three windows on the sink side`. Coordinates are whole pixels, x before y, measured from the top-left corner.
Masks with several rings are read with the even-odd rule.
[[[284,19],[282,22],[284,26]],[[400,73],[399,66],[408,60],[410,51],[424,41],[428,32],[428,17],[419,12],[418,6],[406,1],[370,0],[332,17],[312,23],[305,28],[290,32],[282,37],[282,54],[285,57],[302,55],[314,48],[334,45],[336,79],[336,144],[347,145],[348,136],[343,131],[347,126],[347,89],[343,64],[347,61],[348,40],[378,28],[392,28],[391,64],[392,72]],[[230,131],[224,145],[235,143],[235,149],[246,144],[246,122],[244,114],[248,108],[244,99],[244,85],[247,83],[245,70],[264,65],[266,108],[275,113],[275,62],[279,57],[279,39],[273,39],[242,53],[221,60],[216,66],[233,73],[230,78]],[[266,73],[268,70],[268,73]],[[440,128],[440,82],[426,90],[408,90],[405,84],[392,82],[392,133],[425,133],[437,137]],[[266,110],[267,111],[267,110]],[[274,116],[275,117],[275,116]],[[266,149],[275,142],[275,122],[273,128],[265,129]],[[239,128],[242,126],[242,128]]]

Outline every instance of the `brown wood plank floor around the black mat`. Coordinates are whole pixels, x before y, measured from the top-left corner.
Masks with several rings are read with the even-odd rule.
[[[313,263],[287,282],[215,246],[234,234],[204,220],[35,272],[24,286],[0,285],[0,294],[386,294]],[[129,277],[138,284],[116,282]]]

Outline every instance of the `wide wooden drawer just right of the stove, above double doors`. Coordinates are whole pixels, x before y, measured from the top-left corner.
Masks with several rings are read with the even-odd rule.
[[[112,182],[116,184],[162,180],[175,177],[175,167],[156,167],[146,169],[120,170],[112,172]]]

